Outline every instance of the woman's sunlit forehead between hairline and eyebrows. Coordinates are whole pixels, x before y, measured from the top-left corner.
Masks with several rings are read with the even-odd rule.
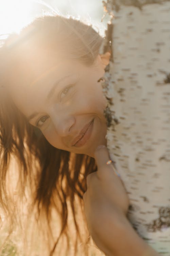
[[[11,66],[8,89],[19,109],[28,114],[34,110],[32,103],[35,99],[41,102],[45,98],[55,79],[82,73],[85,68],[78,60],[61,58],[59,55],[26,53]]]

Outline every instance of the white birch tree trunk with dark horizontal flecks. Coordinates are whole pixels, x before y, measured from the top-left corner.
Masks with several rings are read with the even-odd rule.
[[[103,90],[107,143],[130,198],[128,218],[170,256],[170,0],[103,1],[111,46]]]

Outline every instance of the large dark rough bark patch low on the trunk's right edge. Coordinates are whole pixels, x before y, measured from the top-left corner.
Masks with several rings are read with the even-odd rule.
[[[162,228],[170,227],[170,207],[160,207],[158,210],[158,218],[149,224],[146,224],[149,232],[161,231]]]

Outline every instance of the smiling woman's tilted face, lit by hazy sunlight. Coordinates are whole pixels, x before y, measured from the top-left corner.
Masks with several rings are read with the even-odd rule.
[[[10,77],[15,104],[56,148],[94,157],[106,144],[106,100],[101,82],[109,54],[92,66],[47,55],[16,63]]]

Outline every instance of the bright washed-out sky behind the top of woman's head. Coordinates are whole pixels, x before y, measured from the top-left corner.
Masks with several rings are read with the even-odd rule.
[[[102,0],[0,0],[0,35],[19,32],[37,16],[56,13],[89,22],[104,34],[109,17],[101,22]]]

